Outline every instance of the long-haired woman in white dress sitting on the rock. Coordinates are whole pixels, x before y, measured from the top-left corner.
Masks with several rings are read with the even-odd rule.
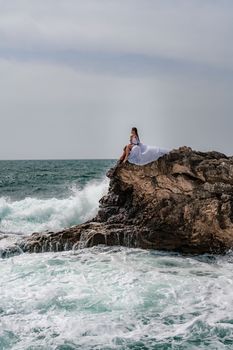
[[[167,149],[142,144],[138,136],[137,128],[132,128],[130,143],[124,147],[119,162],[125,163],[128,161],[132,164],[145,165],[167,153],[169,153]]]

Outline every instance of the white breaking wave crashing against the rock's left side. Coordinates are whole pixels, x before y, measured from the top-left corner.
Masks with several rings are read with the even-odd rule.
[[[91,181],[83,189],[72,187],[68,198],[19,201],[0,198],[0,232],[30,234],[58,231],[80,224],[97,213],[100,198],[107,192],[109,180]]]

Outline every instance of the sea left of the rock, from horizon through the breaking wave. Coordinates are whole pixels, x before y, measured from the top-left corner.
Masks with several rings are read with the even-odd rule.
[[[57,231],[96,214],[113,160],[0,161],[0,234]]]

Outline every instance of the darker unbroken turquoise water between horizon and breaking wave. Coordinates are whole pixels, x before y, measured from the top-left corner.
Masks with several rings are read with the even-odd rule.
[[[74,187],[102,180],[114,160],[0,161],[0,197],[67,198]]]

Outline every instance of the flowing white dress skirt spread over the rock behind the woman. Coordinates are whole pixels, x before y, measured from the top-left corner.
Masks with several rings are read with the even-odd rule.
[[[147,146],[139,142],[131,149],[128,162],[136,165],[145,165],[159,159],[167,153],[169,153],[169,150],[165,148]]]

